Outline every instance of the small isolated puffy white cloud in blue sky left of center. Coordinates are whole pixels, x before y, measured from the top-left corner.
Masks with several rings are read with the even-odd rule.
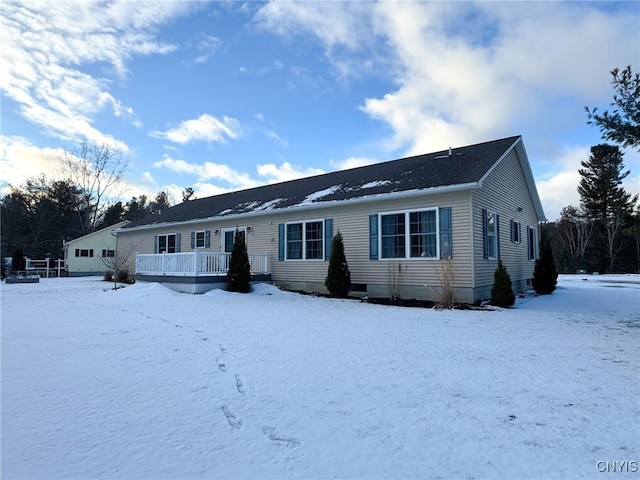
[[[235,118],[222,117],[222,120],[202,114],[198,118],[185,120],[176,128],[165,132],[154,131],[149,135],[155,138],[166,138],[175,143],[186,144],[192,141],[224,143],[227,138],[238,138],[242,134],[240,122]]]

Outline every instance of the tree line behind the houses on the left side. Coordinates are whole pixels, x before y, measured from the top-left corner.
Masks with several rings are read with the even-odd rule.
[[[18,249],[30,258],[62,258],[63,241],[172,206],[165,191],[113,201],[127,165],[109,146],[85,142],[61,160],[62,179],[30,178],[0,198],[0,258]],[[182,200],[192,197],[193,189],[186,188]]]

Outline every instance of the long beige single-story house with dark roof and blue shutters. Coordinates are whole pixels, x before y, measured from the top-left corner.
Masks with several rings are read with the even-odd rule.
[[[237,229],[256,280],[326,292],[340,231],[354,292],[433,300],[450,256],[457,299],[476,302],[499,258],[529,288],[543,220],[515,136],[184,202],[121,228],[118,245],[139,252],[137,279],[199,293],[224,283]]]

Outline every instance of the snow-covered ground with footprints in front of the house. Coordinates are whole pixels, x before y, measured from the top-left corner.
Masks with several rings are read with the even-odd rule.
[[[637,275],[498,311],[108,288],[1,285],[2,478],[638,476]]]

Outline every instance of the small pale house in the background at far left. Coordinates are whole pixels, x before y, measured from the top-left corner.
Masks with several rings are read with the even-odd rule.
[[[64,242],[62,248],[69,276],[102,275],[109,270],[116,256],[114,230],[128,223],[129,220],[124,220],[84,237]]]

